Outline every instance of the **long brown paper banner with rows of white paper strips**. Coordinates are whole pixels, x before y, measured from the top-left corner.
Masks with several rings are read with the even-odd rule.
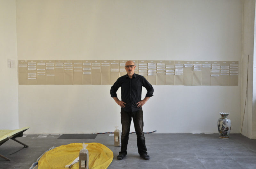
[[[127,60],[19,60],[20,85],[109,85],[126,75]],[[133,60],[152,85],[237,86],[238,61]]]

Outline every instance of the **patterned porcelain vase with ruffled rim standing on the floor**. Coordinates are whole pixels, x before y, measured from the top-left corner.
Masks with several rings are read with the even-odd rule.
[[[218,120],[218,130],[220,138],[228,139],[231,130],[231,120],[228,119],[229,113],[220,113],[221,118]]]

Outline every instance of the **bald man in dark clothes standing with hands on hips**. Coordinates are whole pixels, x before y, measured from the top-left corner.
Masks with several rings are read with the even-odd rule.
[[[127,144],[131,122],[133,120],[134,129],[137,135],[137,146],[140,157],[149,160],[146,148],[146,141],[143,132],[143,111],[142,106],[153,96],[154,88],[145,77],[135,74],[135,64],[129,60],[125,63],[127,74],[119,77],[110,89],[110,95],[121,107],[121,151],[117,159],[122,160],[127,154]],[[141,100],[142,86],[147,89],[146,97]],[[116,91],[121,87],[121,100],[117,98]]]

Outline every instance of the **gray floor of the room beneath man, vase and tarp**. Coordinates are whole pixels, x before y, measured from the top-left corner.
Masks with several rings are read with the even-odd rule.
[[[29,145],[24,149],[21,144],[13,140],[5,142],[0,146],[0,154],[10,158],[11,161],[0,158],[0,168],[28,169],[44,151],[52,146],[83,142],[101,143],[113,151],[114,159],[109,169],[256,168],[256,140],[241,134],[231,134],[230,139],[220,139],[218,134],[145,134],[150,160],[140,158],[136,134],[130,134],[128,154],[123,160],[116,159],[120,147],[113,145],[114,138],[109,134],[98,134],[95,139],[85,140],[57,139],[60,135],[51,134],[45,136],[18,137],[17,140]]]

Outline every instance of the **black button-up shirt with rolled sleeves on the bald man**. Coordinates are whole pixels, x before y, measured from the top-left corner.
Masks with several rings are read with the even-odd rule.
[[[126,112],[138,111],[141,108],[138,108],[136,103],[141,101],[142,86],[148,91],[146,97],[153,96],[154,88],[145,77],[139,74],[133,74],[131,79],[126,74],[116,80],[110,89],[110,95],[111,97],[117,97],[116,91],[121,87],[121,98],[126,103],[125,107],[121,109]]]

